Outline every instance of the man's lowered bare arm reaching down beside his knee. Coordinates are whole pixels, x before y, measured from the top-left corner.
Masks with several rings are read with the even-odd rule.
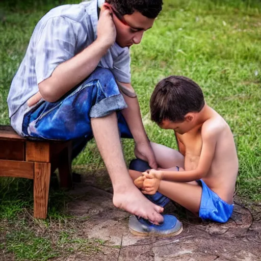
[[[122,110],[122,115],[126,120],[129,130],[131,131],[136,143],[135,154],[138,158],[148,161],[151,168],[156,168],[156,160],[149,139],[146,135],[140,112],[140,106],[137,97],[129,97],[125,93],[133,93],[135,91],[129,83],[119,83],[125,87],[124,92],[121,91],[128,108]],[[135,96],[135,95],[132,95]]]

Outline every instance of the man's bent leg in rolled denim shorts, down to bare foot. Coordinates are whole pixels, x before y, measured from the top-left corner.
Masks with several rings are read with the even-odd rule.
[[[57,102],[43,102],[25,115],[25,136],[69,140],[94,134],[114,188],[115,206],[159,223],[163,208],[151,203],[135,187],[123,159],[115,111],[125,108],[114,77],[108,69],[96,69],[83,84]],[[120,127],[120,132],[121,127]]]

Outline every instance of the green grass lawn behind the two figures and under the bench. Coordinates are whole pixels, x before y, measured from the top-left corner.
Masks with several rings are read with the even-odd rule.
[[[59,3],[77,1],[0,3],[0,124],[9,123],[6,98],[35,24]],[[258,0],[165,0],[164,10],[153,28],[145,33],[140,45],[131,49],[132,83],[139,95],[149,138],[176,148],[173,133],[150,121],[148,101],[155,84],[163,77],[170,74],[190,77],[202,87],[208,105],[232,129],[240,162],[237,193],[249,201],[261,200],[260,35]],[[133,141],[124,140],[123,147],[128,163],[134,157]],[[93,141],[74,161],[75,169],[83,166],[85,172],[104,168]],[[0,179],[0,252],[12,254],[17,260],[45,260],[75,249],[98,251],[97,242],[73,238],[77,227],[67,236],[50,232],[54,224],[64,220],[72,225],[77,223],[66,214],[66,203],[71,198],[57,189],[55,180],[51,184],[48,219],[41,224],[45,228],[37,232],[38,221],[27,214],[31,215],[33,208],[32,181]],[[77,241],[73,243],[75,248],[71,249],[66,240]],[[44,248],[39,248],[41,245]]]

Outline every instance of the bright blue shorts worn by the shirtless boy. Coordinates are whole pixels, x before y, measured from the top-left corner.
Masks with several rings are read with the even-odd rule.
[[[202,187],[199,217],[203,220],[226,223],[232,215],[234,204],[230,205],[222,200],[202,179],[197,182]]]

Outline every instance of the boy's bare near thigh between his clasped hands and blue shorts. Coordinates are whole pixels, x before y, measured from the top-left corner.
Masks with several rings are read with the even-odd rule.
[[[161,180],[158,191],[181,206],[186,207],[189,211],[199,212],[202,194],[201,186],[186,182]]]

